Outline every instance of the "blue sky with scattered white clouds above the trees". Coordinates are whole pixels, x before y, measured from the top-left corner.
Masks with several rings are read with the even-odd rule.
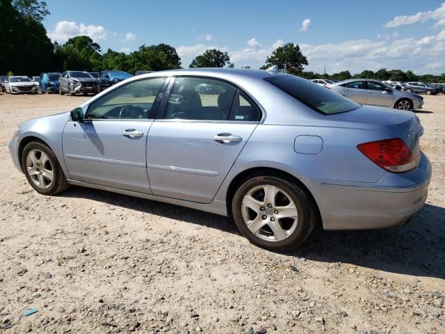
[[[46,2],[51,15],[43,24],[53,41],[89,35],[102,51],[125,53],[162,42],[177,49],[182,67],[216,48],[235,67],[258,68],[293,42],[308,71],[445,72],[443,0]]]

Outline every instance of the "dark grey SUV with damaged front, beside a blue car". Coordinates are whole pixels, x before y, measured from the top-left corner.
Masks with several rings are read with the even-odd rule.
[[[60,95],[69,93],[72,96],[77,93],[95,94],[95,83],[95,77],[92,77],[88,72],[66,71],[58,79],[58,92]]]

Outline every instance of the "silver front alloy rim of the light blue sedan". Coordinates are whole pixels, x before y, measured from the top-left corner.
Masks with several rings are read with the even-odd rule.
[[[47,189],[54,180],[54,166],[47,154],[41,150],[31,150],[26,156],[26,173],[35,186]]]

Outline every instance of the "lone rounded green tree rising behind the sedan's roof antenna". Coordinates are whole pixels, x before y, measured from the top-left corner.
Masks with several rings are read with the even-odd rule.
[[[273,53],[266,59],[266,65],[264,67],[270,67],[273,65],[278,66],[278,70],[286,71],[290,74],[301,74],[303,65],[308,65],[307,58],[300,51],[298,44],[287,43],[282,47],[278,47]]]

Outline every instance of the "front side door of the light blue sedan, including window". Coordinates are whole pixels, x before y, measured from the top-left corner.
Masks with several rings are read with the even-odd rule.
[[[93,101],[83,122],[67,122],[63,154],[73,180],[150,193],[147,134],[165,78],[120,86]]]

